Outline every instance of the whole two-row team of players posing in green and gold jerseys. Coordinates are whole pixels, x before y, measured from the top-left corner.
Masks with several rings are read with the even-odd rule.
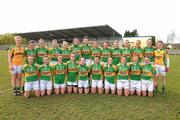
[[[8,64],[15,96],[104,93],[152,97],[159,79],[162,95],[166,95],[170,60],[160,40],[153,44],[148,39],[146,47],[141,47],[140,40],[131,46],[128,39],[99,44],[88,36],[74,37],[71,45],[53,39],[47,46],[39,39],[23,47],[21,36],[14,41],[8,49]]]

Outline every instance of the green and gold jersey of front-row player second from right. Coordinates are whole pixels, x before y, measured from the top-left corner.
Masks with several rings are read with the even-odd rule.
[[[139,63],[132,63],[130,65],[131,80],[141,80],[142,67]]]

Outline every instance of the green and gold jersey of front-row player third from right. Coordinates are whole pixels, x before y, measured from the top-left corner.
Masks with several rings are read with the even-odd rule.
[[[128,80],[129,79],[129,71],[130,67],[126,64],[119,63],[117,65],[117,79],[118,80]]]

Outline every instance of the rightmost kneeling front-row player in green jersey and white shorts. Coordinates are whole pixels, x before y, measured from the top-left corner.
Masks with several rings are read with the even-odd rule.
[[[141,81],[142,81],[142,95],[146,96],[148,91],[148,96],[153,96],[153,77],[155,74],[155,68],[151,65],[150,59],[145,57],[144,59],[145,65],[142,66],[142,74],[141,74]]]

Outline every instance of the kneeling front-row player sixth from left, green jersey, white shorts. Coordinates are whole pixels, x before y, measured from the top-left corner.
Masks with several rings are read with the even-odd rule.
[[[94,58],[94,64],[90,66],[90,74],[92,80],[91,92],[96,93],[98,88],[98,93],[103,93],[103,67],[99,62],[99,57]]]

